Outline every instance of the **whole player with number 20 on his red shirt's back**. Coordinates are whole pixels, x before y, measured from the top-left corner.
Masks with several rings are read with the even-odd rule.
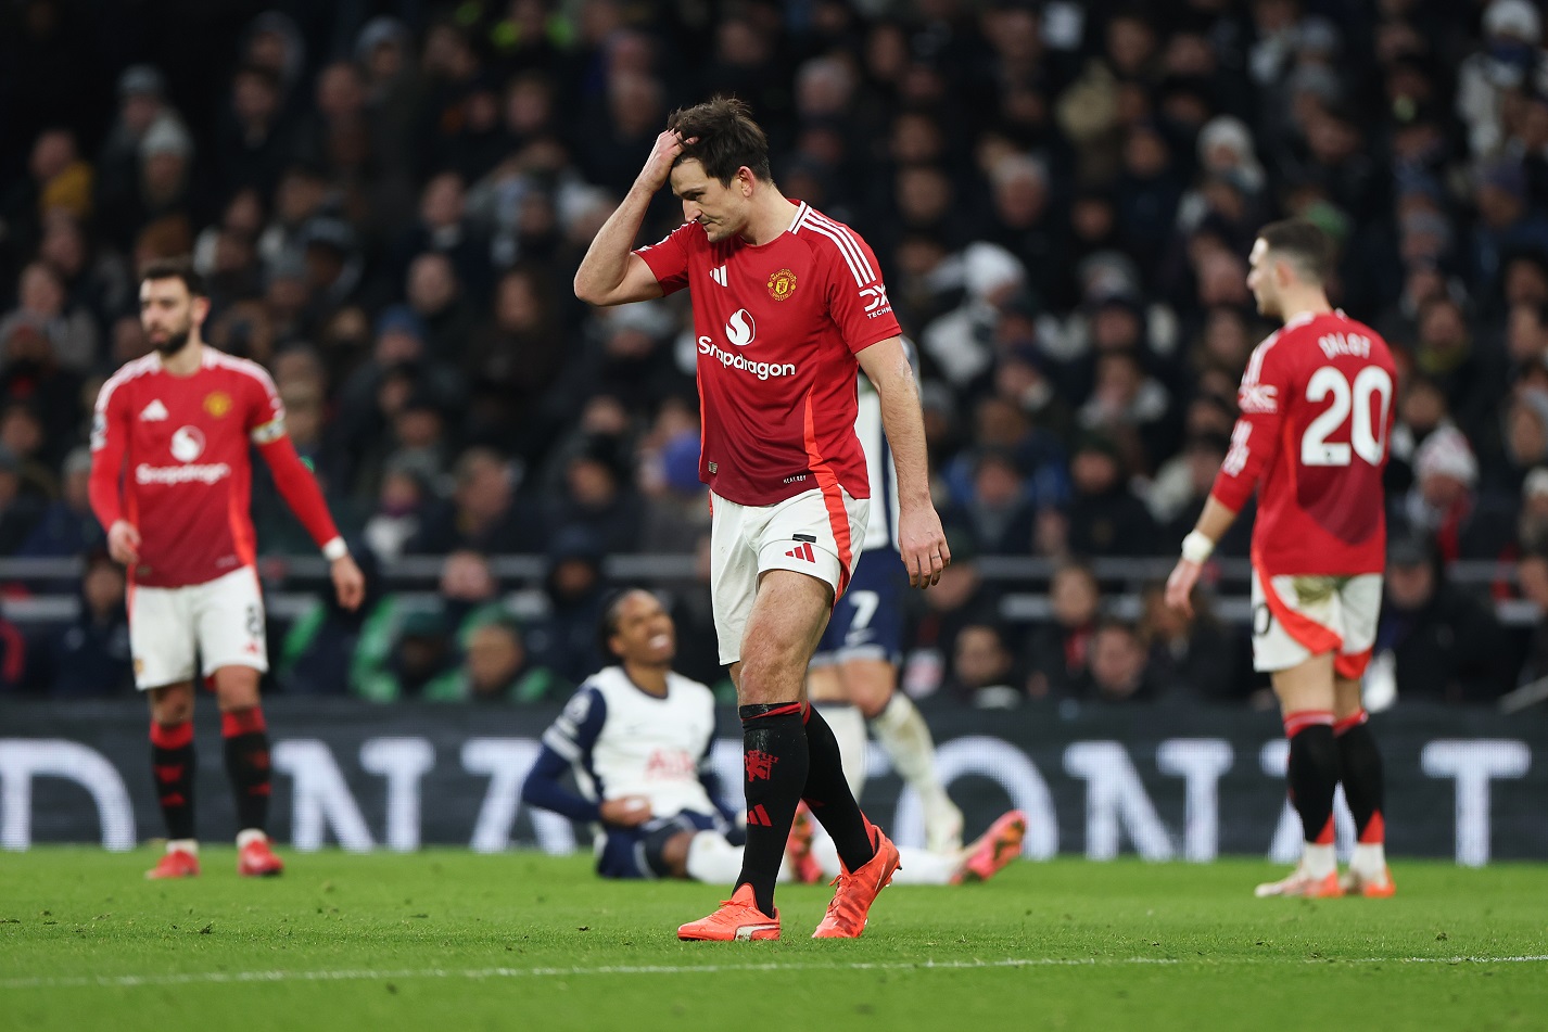
[[[1252,658],[1279,696],[1289,794],[1305,831],[1297,870],[1260,885],[1259,896],[1392,894],[1381,755],[1359,678],[1381,607],[1381,477],[1396,370],[1375,331],[1328,303],[1333,258],[1331,240],[1311,223],[1272,223],[1259,234],[1248,286],[1259,311],[1283,328],[1248,361],[1231,450],[1167,582],[1167,602],[1189,610],[1200,566],[1257,489]],[[1359,834],[1342,882],[1333,854],[1341,780]]]

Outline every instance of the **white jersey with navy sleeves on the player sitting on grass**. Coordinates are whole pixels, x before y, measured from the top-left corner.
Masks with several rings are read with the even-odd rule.
[[[698,681],[667,675],[667,695],[639,689],[622,667],[587,678],[543,744],[570,761],[576,784],[601,803],[644,795],[655,817],[715,814],[700,783],[715,738],[715,696]]]

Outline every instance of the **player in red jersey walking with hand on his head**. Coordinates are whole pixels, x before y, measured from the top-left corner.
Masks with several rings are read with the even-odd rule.
[[[670,184],[684,224],[633,251]],[[844,862],[817,938],[854,938],[898,849],[861,814],[833,730],[805,702],[807,665],[865,538],[870,486],[854,436],[856,365],[881,396],[899,554],[924,588],[950,562],[930,501],[924,421],[876,255],[788,200],[768,139],[734,99],[675,111],[576,272],[576,296],[622,305],[692,288],[703,408],[700,478],[714,511],[720,659],[741,704],[748,845],[731,900],[683,939],[779,938],[774,880],[805,800]]]

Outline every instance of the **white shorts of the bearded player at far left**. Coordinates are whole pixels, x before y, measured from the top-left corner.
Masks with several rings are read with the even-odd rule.
[[[268,670],[257,572],[240,566],[201,585],[132,588],[128,648],[141,692],[192,681],[195,650],[206,678],[221,667]]]

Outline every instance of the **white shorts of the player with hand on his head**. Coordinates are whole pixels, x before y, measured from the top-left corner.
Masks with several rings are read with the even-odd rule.
[[[720,662],[741,661],[741,636],[752,616],[759,576],[791,569],[824,580],[837,600],[854,572],[856,545],[865,540],[870,500],[820,487],[772,506],[738,506],[711,494],[709,594],[715,611]]]

